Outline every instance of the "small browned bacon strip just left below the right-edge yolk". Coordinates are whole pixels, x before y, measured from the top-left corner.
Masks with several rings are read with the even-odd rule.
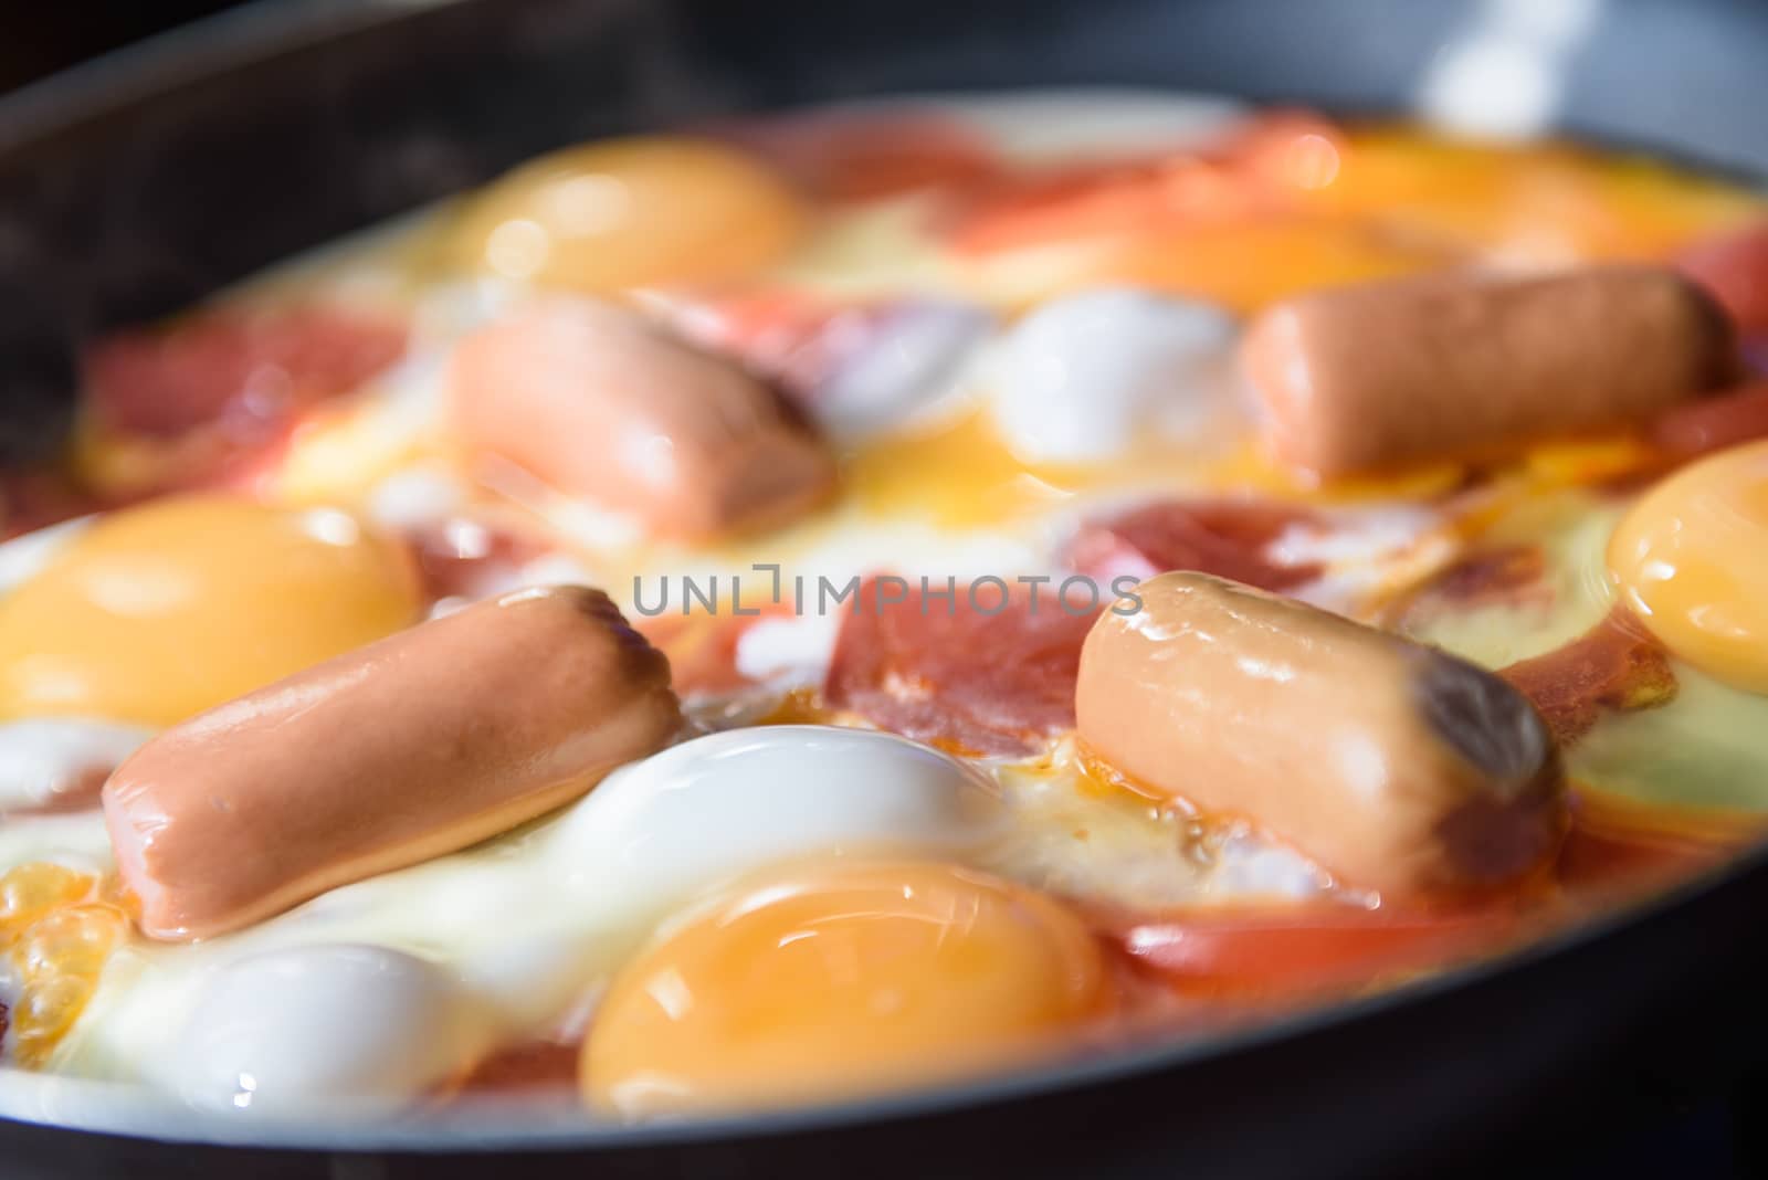
[[[1589,733],[1605,708],[1651,708],[1676,696],[1676,673],[1662,645],[1625,608],[1572,643],[1497,675],[1535,701],[1559,745]]]

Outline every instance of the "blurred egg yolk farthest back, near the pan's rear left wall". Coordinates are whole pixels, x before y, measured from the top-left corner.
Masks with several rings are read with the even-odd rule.
[[[469,267],[585,291],[700,283],[764,267],[799,237],[799,198],[707,140],[608,140],[516,170],[453,233]]]

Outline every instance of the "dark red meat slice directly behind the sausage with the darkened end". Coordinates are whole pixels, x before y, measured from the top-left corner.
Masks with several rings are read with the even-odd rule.
[[[1322,569],[1276,562],[1268,546],[1292,525],[1317,523],[1307,509],[1280,503],[1162,500],[1084,525],[1068,546],[1068,564],[1101,583],[1195,569],[1282,592]]]

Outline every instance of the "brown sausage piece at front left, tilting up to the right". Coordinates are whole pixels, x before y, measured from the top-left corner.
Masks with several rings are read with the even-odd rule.
[[[143,933],[207,938],[532,820],[679,724],[605,594],[516,590],[163,731],[104,821]]]

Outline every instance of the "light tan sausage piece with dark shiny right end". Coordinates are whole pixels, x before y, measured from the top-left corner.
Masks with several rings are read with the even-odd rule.
[[[1080,740],[1147,790],[1384,894],[1489,889],[1554,850],[1558,749],[1492,673],[1209,574],[1135,594],[1087,634],[1075,710]]]

